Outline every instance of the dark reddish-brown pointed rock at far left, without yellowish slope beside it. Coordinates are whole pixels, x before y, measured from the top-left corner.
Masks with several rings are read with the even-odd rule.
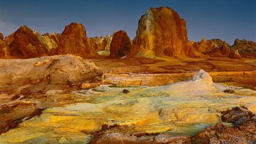
[[[22,58],[46,56],[48,50],[38,36],[40,33],[36,33],[24,25],[15,33],[7,36],[5,41],[10,47],[12,56]]]

